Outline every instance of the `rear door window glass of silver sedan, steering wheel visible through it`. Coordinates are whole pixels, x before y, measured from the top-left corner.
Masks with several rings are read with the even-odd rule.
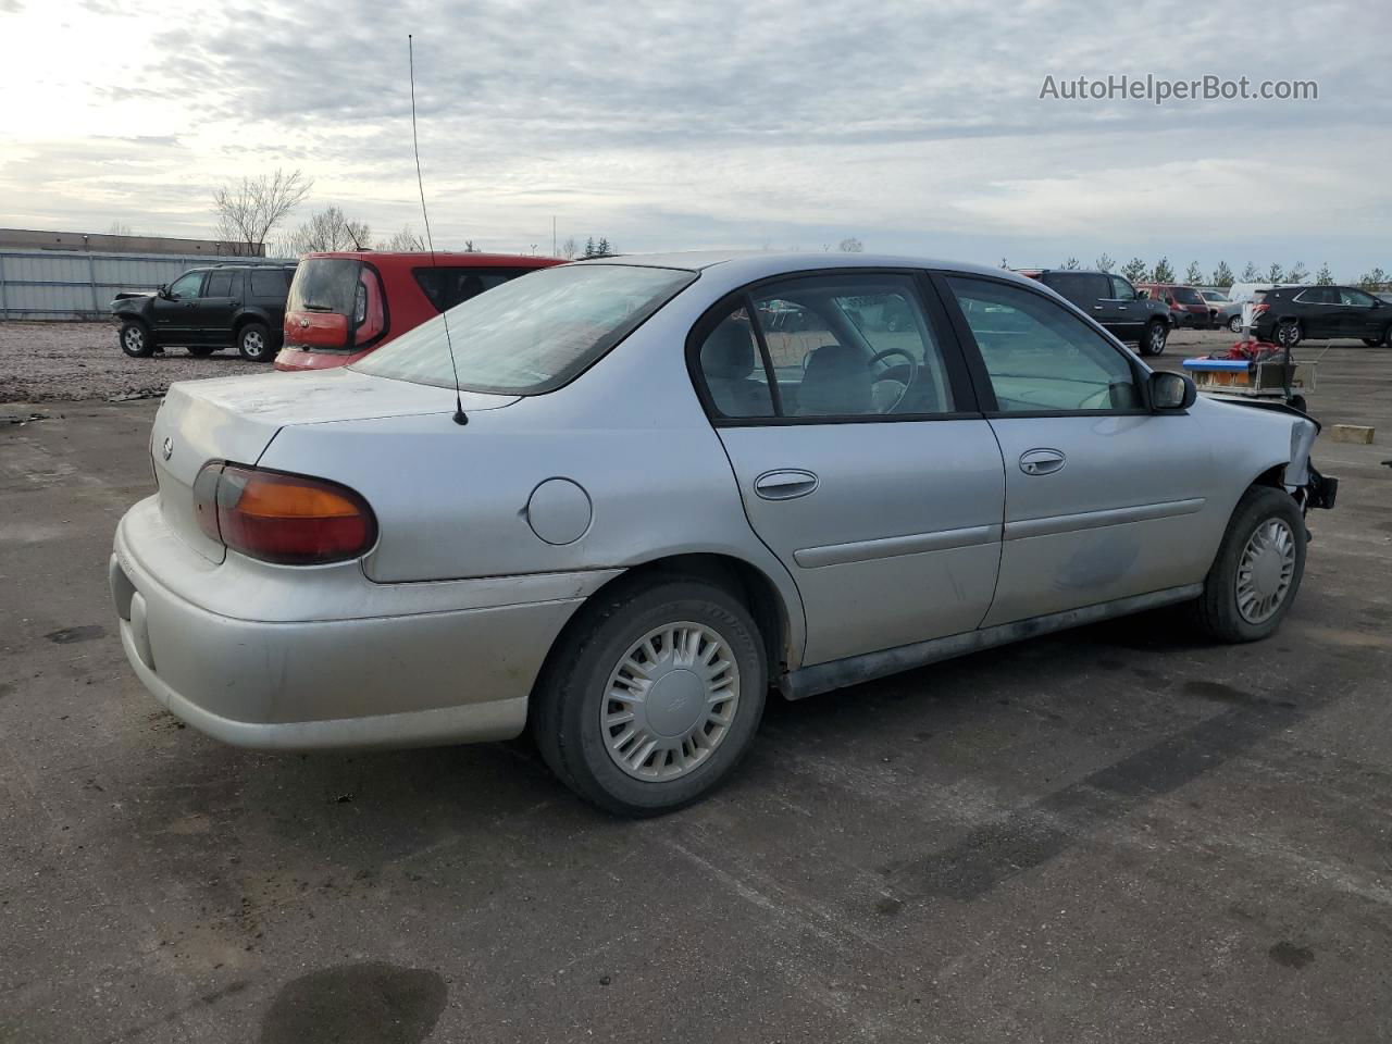
[[[743,305],[725,313],[697,354],[700,377],[721,415],[954,411],[944,356],[909,276],[803,277],[761,287],[748,301],[752,316]]]

